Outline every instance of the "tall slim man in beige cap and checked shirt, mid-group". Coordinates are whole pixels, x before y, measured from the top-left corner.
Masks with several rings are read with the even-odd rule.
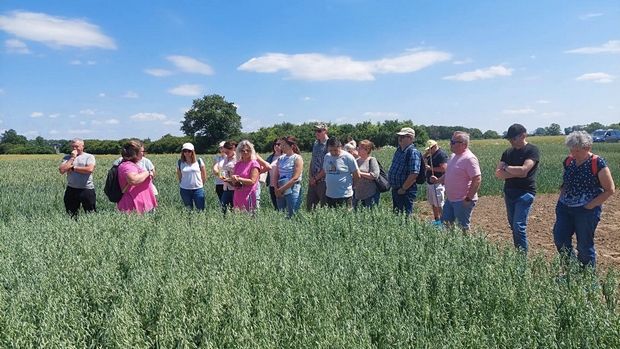
[[[312,159],[310,160],[309,167],[309,185],[308,195],[306,195],[306,209],[312,211],[316,208],[317,204],[321,204],[321,207],[325,206],[325,170],[323,169],[323,160],[327,154],[327,125],[322,122],[314,125],[314,135],[316,140],[312,145]]]

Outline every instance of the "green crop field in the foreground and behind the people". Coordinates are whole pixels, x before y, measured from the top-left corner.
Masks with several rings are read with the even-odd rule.
[[[556,192],[563,138],[529,140],[540,191]],[[473,142],[482,195],[501,194],[493,171],[506,147]],[[594,147],[612,173],[619,147]],[[373,155],[387,168],[392,152]],[[98,212],[75,221],[60,158],[0,156],[1,348],[620,347],[614,270],[566,272],[480,231],[405,220],[387,193],[376,210],[286,220],[263,189],[255,218],[223,216],[210,176],[206,211],[187,212],[177,155],[153,155],[160,206],[139,217],[107,201],[115,157],[97,156]]]

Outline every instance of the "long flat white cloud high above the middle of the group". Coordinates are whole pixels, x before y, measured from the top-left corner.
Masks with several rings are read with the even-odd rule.
[[[355,61],[348,56],[326,56],[320,53],[295,55],[269,53],[250,59],[237,70],[257,73],[287,70],[290,78],[298,80],[367,81],[375,79],[373,74],[412,73],[450,58],[449,53],[439,51],[415,52],[375,61]]]

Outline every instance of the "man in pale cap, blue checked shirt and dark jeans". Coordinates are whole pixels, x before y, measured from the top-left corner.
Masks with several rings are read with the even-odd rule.
[[[392,209],[395,213],[413,213],[413,201],[418,195],[415,183],[420,171],[422,154],[413,145],[415,131],[403,127],[398,133],[398,147],[394,152],[392,164],[388,171],[388,181],[392,187]]]

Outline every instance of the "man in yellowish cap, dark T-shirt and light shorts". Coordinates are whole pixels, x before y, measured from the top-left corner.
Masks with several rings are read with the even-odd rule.
[[[426,152],[422,157],[426,167],[426,200],[431,205],[433,216],[435,217],[432,224],[441,225],[445,188],[443,184],[431,183],[431,176],[439,178],[446,173],[448,156],[443,149],[439,148],[439,144],[436,141],[429,139],[426,142]]]

